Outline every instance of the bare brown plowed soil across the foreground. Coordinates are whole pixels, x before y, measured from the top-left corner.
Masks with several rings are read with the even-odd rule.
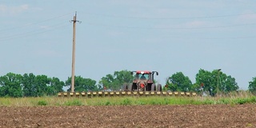
[[[0,127],[256,127],[256,105],[0,108]]]

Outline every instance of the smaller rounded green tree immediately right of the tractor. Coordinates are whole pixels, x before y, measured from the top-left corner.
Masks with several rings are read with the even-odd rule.
[[[172,91],[190,91],[192,82],[182,72],[177,72],[168,78],[166,85]]]

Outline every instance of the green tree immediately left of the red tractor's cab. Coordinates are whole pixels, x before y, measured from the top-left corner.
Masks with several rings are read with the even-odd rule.
[[[124,84],[131,83],[134,77],[128,70],[114,71],[114,74],[106,74],[99,84],[110,90],[120,90]]]

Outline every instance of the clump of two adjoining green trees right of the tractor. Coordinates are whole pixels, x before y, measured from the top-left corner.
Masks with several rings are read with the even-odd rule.
[[[211,96],[216,94],[228,94],[239,89],[235,78],[222,73],[220,70],[207,71],[200,69],[192,83],[190,78],[178,72],[168,78],[166,85],[172,91],[195,91]]]

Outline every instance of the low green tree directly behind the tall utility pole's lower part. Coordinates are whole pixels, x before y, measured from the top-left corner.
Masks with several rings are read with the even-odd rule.
[[[66,86],[70,86],[71,78],[66,80]],[[82,78],[81,76],[74,76],[74,91],[82,92],[88,90],[98,90],[96,81],[90,78]],[[70,91],[70,88],[68,89]]]

